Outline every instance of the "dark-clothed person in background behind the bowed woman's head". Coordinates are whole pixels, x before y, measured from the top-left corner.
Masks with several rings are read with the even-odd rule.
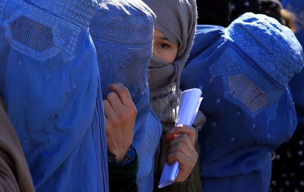
[[[227,27],[230,22],[246,12],[264,14],[277,19],[296,31],[295,15],[284,9],[278,0],[229,0],[219,2],[200,1],[197,5],[199,25],[220,25]],[[220,17],[219,17],[220,15]]]

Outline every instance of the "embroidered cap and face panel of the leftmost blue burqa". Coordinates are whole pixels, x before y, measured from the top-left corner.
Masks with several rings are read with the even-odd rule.
[[[92,9],[95,9],[97,2],[83,0],[74,4],[74,1],[58,1],[58,8],[55,8],[54,2],[39,2],[37,6],[31,3],[38,4],[38,1],[2,2],[3,8],[7,6],[5,12],[1,12],[6,39],[12,48],[39,61],[60,52],[64,61],[73,59],[78,35],[82,28],[87,29],[92,18]],[[71,5],[67,9],[65,3],[68,2]],[[71,6],[76,7],[72,12]],[[63,7],[66,11],[57,14]],[[83,18],[77,19],[80,17]]]

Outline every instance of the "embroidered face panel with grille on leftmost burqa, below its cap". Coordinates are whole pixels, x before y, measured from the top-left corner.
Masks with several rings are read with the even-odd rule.
[[[9,15],[3,27],[12,48],[39,61],[60,52],[64,61],[75,57],[79,26],[23,1],[8,1],[4,14]]]

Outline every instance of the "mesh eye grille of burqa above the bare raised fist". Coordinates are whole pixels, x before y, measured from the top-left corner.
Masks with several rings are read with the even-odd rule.
[[[126,87],[141,92],[146,88],[147,69],[150,57],[140,58],[135,56],[132,61],[123,69],[123,75],[126,78],[124,84]]]

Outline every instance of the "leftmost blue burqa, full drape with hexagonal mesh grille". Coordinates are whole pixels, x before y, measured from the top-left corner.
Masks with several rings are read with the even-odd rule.
[[[97,2],[0,5],[0,97],[35,190],[108,191],[97,56],[88,32]]]

